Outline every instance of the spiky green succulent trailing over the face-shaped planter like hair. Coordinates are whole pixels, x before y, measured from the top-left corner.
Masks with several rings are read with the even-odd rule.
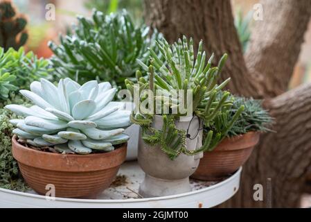
[[[193,94],[192,103],[187,105],[193,106],[193,115],[197,115],[205,124],[211,123],[224,107],[232,105],[228,101],[229,92],[222,92],[221,89],[229,82],[225,80],[217,85],[217,76],[219,76],[227,55],[221,58],[217,67],[212,67],[213,55],[206,62],[206,52],[203,51],[203,42],[199,43],[197,56],[195,58],[193,39],[183,40],[170,45],[166,40],[157,41],[157,47],[161,52],[161,56],[157,56],[150,49],[151,65],[145,65],[139,61],[141,67],[148,72],[149,79],[144,78],[140,71],[137,71],[136,78],[139,83],[134,84],[130,80],[125,80],[127,89],[132,94],[135,91],[143,91],[150,89],[154,94],[154,101],[169,106],[170,110],[179,110],[181,98],[186,98],[186,92],[190,89]],[[177,94],[179,89],[184,89],[185,94]],[[163,96],[159,97],[155,94],[159,90]],[[216,95],[221,94],[221,99],[217,100]],[[172,99],[177,98],[177,99]],[[140,103],[148,99],[148,95],[142,94]],[[186,102],[185,102],[186,103]],[[140,104],[136,104],[139,107]],[[154,108],[156,105],[154,105]],[[236,116],[242,112],[243,107],[239,109]],[[154,110],[153,113],[156,113]],[[159,112],[157,112],[159,113]],[[204,145],[196,151],[188,151],[186,148],[186,132],[175,127],[175,121],[183,114],[181,112],[163,114],[163,128],[157,130],[152,128],[153,114],[144,114],[137,112],[132,114],[133,123],[139,124],[143,128],[143,139],[147,144],[152,146],[160,145],[162,150],[169,155],[171,159],[177,157],[180,153],[186,155],[195,155],[202,151],[206,151],[215,147],[221,139],[220,134],[214,134],[213,130],[209,130],[204,141]],[[235,121],[232,119],[232,122]],[[232,125],[232,123],[231,123]],[[229,125],[229,127],[231,126]]]

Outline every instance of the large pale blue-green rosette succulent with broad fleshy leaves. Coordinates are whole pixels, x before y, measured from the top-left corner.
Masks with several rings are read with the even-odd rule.
[[[89,154],[112,151],[129,139],[123,128],[131,124],[130,111],[123,109],[123,103],[112,102],[116,88],[110,83],[92,80],[81,86],[66,78],[55,86],[42,78],[31,83],[30,90],[19,91],[33,102],[30,108],[6,105],[25,117],[10,122],[17,127],[13,133],[26,144]]]

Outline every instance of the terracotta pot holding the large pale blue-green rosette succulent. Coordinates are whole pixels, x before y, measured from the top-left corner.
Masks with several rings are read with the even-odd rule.
[[[127,144],[109,153],[89,155],[35,151],[12,137],[12,154],[27,184],[45,195],[46,185],[55,186],[55,196],[95,198],[107,189],[125,161]]]

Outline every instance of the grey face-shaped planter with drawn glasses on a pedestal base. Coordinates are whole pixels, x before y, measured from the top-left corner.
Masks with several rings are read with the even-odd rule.
[[[191,121],[192,120],[192,121]],[[193,151],[202,146],[202,131],[197,117],[181,117],[176,121],[179,129],[188,130],[186,146]],[[154,116],[153,127],[161,129],[163,117]],[[175,160],[170,160],[160,146],[149,146],[139,137],[139,165],[145,171],[145,180],[139,187],[139,194],[143,197],[169,196],[191,191],[189,176],[195,172],[199,165],[199,155],[179,155]]]

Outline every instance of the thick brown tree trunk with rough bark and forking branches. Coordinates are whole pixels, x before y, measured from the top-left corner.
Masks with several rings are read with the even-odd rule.
[[[256,183],[272,178],[272,206],[297,207],[311,172],[311,84],[286,92],[311,15],[309,0],[263,0],[263,21],[256,22],[249,49],[233,26],[229,0],[145,0],[145,19],[168,41],[185,34],[203,39],[219,59],[229,53],[222,78],[231,76],[231,92],[265,99],[275,117],[274,130],[260,139],[245,164],[238,194],[226,207],[265,207],[254,201]]]

